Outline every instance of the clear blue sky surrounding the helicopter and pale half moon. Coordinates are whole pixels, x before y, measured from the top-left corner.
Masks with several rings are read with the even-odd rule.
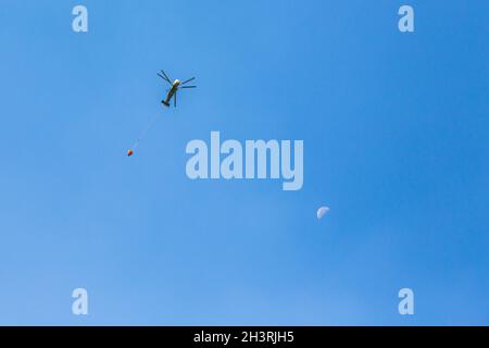
[[[488,13],[3,0],[0,324],[489,324]],[[177,109],[160,69],[198,77]],[[303,139],[302,190],[188,179],[211,130]]]

